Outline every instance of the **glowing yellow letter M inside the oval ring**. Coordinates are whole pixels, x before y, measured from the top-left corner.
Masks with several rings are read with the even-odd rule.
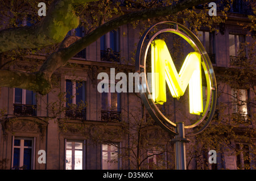
[[[195,115],[203,112],[200,53],[189,53],[178,74],[166,43],[160,39],[154,40],[151,44],[151,68],[152,98],[155,103],[166,102],[166,82],[171,95],[178,100],[189,84],[189,112]]]

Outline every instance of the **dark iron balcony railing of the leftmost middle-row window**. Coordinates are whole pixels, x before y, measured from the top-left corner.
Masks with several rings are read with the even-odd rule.
[[[19,116],[36,116],[36,105],[13,104],[14,115]]]

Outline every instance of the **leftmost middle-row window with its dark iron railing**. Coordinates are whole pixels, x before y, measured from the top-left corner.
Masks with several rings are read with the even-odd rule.
[[[25,89],[14,89],[14,115],[36,116],[36,93]]]

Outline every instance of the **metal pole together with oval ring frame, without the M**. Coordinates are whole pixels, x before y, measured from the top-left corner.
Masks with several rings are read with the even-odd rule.
[[[162,30],[154,33],[154,35],[152,35],[150,37],[150,39],[148,39],[147,35],[149,35],[150,32],[153,32],[154,27],[159,26],[160,24],[165,24],[166,26],[168,26],[168,27],[170,26],[170,27],[162,28]],[[200,119],[191,125],[184,125],[184,123],[172,123],[171,120],[169,120],[166,116],[164,116],[164,114],[159,110],[158,106],[156,106],[157,102],[155,102],[155,99],[153,99],[151,91],[150,91],[151,89],[147,83],[146,75],[148,73],[147,72],[148,65],[146,64],[146,62],[147,62],[148,49],[150,49],[151,44],[153,43],[153,41],[155,41],[156,37],[160,33],[166,33],[166,32],[175,33],[176,35],[179,35],[180,37],[182,37],[184,40],[187,41],[187,43],[189,45],[191,45],[191,47],[195,50],[195,52],[200,53],[200,56],[201,56],[201,65],[200,66],[202,66],[204,69],[204,71],[202,71],[202,72],[205,74],[205,79],[207,82],[207,99],[206,99],[204,111],[203,112],[201,112],[201,110],[199,111]],[[146,46],[143,46],[144,41],[145,41]],[[161,53],[161,56],[162,56],[162,53]],[[164,53],[163,53],[163,56],[165,56]],[[136,61],[135,62],[136,72],[143,73],[142,74],[143,76],[141,77],[142,78],[141,82],[138,83],[138,87],[141,90],[141,98],[143,100],[143,103],[145,104],[152,119],[154,119],[156,121],[156,123],[158,123],[160,125],[160,127],[162,127],[164,130],[166,130],[168,133],[175,135],[174,139],[172,139],[171,142],[174,142],[174,145],[175,145],[176,169],[177,170],[185,170],[185,169],[187,169],[186,168],[186,156],[185,156],[185,143],[189,142],[189,140],[187,138],[185,138],[184,129],[195,128],[195,127],[197,127],[197,125],[201,124],[204,120],[206,120],[205,124],[203,125],[203,127],[201,127],[199,129],[199,131],[193,132],[191,134],[187,134],[187,137],[194,136],[196,134],[203,132],[210,124],[210,121],[212,121],[214,111],[216,108],[216,104],[217,104],[217,82],[216,82],[216,77],[214,74],[212,62],[210,61],[207,51],[205,50],[204,45],[196,37],[196,35],[194,35],[193,32],[191,32],[188,28],[186,28],[185,26],[183,26],[182,24],[179,24],[179,23],[166,21],[166,22],[156,23],[144,32],[144,34],[142,35],[142,37],[138,43],[135,61]],[[174,65],[174,68],[172,68],[172,69],[173,70],[176,69],[175,65]],[[189,70],[189,71],[194,71],[194,70]],[[152,70],[152,72],[155,72],[155,70]],[[175,77],[175,75],[174,75],[174,77]],[[189,78],[189,79],[191,79],[191,78]],[[163,81],[163,79],[162,79],[162,81]],[[190,84],[190,82],[189,82],[189,84]],[[146,90],[146,91],[144,91],[144,90]],[[164,92],[164,90],[163,90],[163,92]],[[201,101],[201,99],[200,99],[200,101]],[[197,112],[195,114],[197,115]],[[175,128],[175,131],[173,130],[173,128]]]

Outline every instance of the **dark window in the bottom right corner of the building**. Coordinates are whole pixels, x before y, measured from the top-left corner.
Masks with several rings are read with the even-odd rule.
[[[250,170],[249,145],[236,144],[237,169]]]

